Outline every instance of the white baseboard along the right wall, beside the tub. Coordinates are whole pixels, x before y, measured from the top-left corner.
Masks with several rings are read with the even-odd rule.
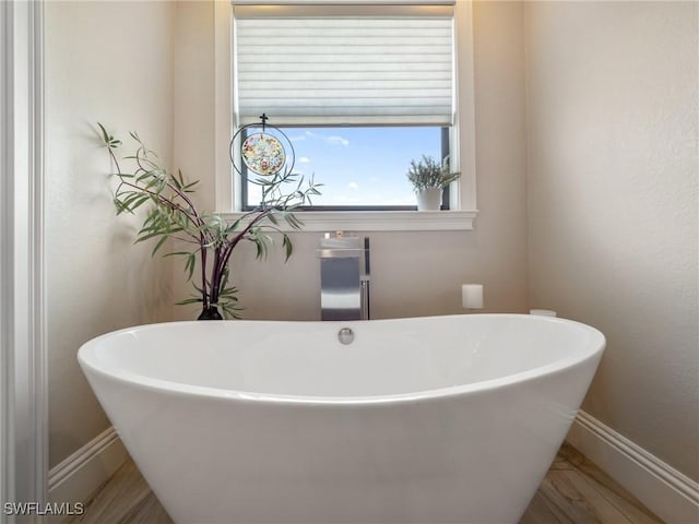
[[[567,437],[667,524],[699,523],[699,484],[580,410]]]

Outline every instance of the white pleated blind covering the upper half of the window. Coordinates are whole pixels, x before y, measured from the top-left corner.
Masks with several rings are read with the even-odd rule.
[[[454,120],[452,5],[234,5],[238,126]]]

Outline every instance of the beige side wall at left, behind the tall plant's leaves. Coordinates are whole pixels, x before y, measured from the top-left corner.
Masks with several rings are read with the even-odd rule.
[[[168,319],[171,277],[139,221],[117,218],[95,122],[138,130],[166,157],[171,127],[171,7],[46,2],[46,286],[50,466],[109,424],[75,355],[128,325]]]

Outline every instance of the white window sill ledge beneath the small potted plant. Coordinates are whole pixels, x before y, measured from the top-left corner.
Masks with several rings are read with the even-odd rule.
[[[473,229],[477,211],[299,211],[304,231],[464,231]],[[235,221],[242,213],[220,213]],[[293,231],[280,223],[285,231]]]

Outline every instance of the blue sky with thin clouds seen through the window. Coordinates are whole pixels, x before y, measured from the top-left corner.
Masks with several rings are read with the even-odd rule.
[[[423,154],[440,158],[439,128],[287,128],[284,132],[296,154],[294,170],[315,174],[316,182],[324,184],[313,204],[414,205],[405,178],[411,159]]]

